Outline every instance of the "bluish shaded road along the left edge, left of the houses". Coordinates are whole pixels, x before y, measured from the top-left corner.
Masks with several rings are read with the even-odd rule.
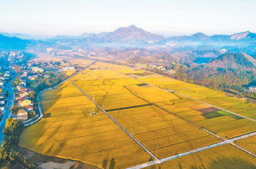
[[[3,129],[4,129],[5,124],[6,124],[6,119],[10,118],[11,115],[12,115],[10,108],[12,108],[13,101],[14,101],[14,93],[13,93],[12,83],[11,82],[7,85],[6,89],[8,90],[8,99],[7,99],[7,103],[6,103],[6,108],[5,108],[5,111],[4,111],[3,119],[0,122],[0,125],[1,125],[0,126],[0,145],[3,142],[3,140],[4,140]]]

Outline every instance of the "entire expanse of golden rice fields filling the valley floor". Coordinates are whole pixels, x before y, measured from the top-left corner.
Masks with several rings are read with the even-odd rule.
[[[139,80],[147,84],[130,76],[141,77]],[[150,159],[134,140],[95,107],[74,84],[86,92],[157,158],[166,158],[221,141],[193,124],[208,129],[222,138],[232,138],[256,131],[256,122],[228,114],[186,96],[206,103],[209,101],[212,105],[216,103],[216,106],[228,110],[237,107],[247,112],[247,108],[255,107],[253,104],[227,97],[220,91],[157,76],[137,72],[127,66],[97,62],[57,89],[42,93],[40,98],[44,113],[51,113],[51,117],[26,128],[20,136],[20,147],[51,156],[82,160],[98,166],[102,166],[104,161],[109,163],[113,158],[116,162],[115,168],[140,165]],[[158,87],[177,91],[186,96]],[[92,112],[98,114],[92,116]],[[249,138],[245,142],[241,140],[241,144],[253,149],[253,141]],[[211,153],[212,158],[209,158]],[[236,158],[233,158],[232,154],[237,154]],[[227,159],[227,163],[223,163],[223,159]],[[244,159],[253,161],[253,157],[239,149],[231,145],[222,145],[173,159],[164,163],[161,168],[202,168],[202,165],[209,168],[228,168],[232,166],[232,162],[243,162]],[[212,166],[214,161],[220,165]],[[255,162],[250,163],[255,165]]]

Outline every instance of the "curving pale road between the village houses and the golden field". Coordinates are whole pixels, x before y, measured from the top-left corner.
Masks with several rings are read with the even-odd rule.
[[[38,93],[37,95],[37,101],[38,101],[38,110],[39,110],[39,117],[32,122],[29,122],[27,124],[24,124],[24,126],[31,126],[33,124],[35,124],[36,122],[40,121],[40,119],[42,119],[44,117],[44,111],[41,105],[41,101],[40,101],[40,95],[42,94],[42,92],[46,91],[46,90],[50,90],[50,89],[56,89],[56,87],[58,87],[59,85],[63,84],[64,82],[67,82],[67,80],[69,80],[70,78],[76,76],[78,73],[81,73],[81,71],[85,70],[86,68],[88,68],[89,66],[91,66],[92,64],[95,64],[96,61],[92,62],[91,64],[88,64],[87,66],[85,66],[83,69],[77,71],[77,73],[75,73],[74,75],[66,78],[65,80],[63,80],[60,84],[55,85],[54,87],[50,87],[49,89],[44,89],[43,91],[41,91],[40,93]]]

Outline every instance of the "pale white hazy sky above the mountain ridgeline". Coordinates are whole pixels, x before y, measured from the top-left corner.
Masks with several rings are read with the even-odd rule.
[[[77,35],[134,24],[165,35],[256,32],[255,0],[0,0],[0,32]]]

